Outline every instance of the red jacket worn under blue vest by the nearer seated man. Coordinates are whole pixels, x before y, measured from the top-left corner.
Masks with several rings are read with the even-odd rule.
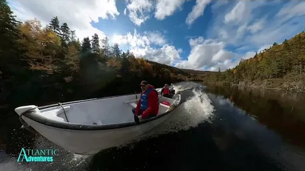
[[[148,88],[154,89],[154,86],[148,85]],[[143,94],[143,92],[141,93],[141,96],[142,96],[142,94]],[[138,101],[138,104],[137,104],[137,107],[135,110],[135,113],[137,115],[140,112],[141,96],[140,96],[140,99]],[[156,91],[151,91],[151,92],[149,92],[147,98],[148,98],[148,107],[146,110],[143,111],[142,118],[146,118],[146,117],[150,116],[151,114],[154,114],[156,116],[159,112],[158,93]]]

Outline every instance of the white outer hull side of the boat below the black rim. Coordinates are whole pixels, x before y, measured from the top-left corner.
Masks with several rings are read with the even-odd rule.
[[[155,120],[115,129],[73,130],[47,126],[22,116],[42,136],[73,153],[92,155],[103,149],[124,145],[168,119],[172,112]]]

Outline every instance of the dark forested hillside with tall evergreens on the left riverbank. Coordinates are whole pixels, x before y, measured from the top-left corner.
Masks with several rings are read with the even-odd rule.
[[[129,94],[147,80],[155,87],[191,80],[181,69],[147,61],[107,37],[79,40],[54,16],[48,26],[25,22],[0,0],[0,108]]]

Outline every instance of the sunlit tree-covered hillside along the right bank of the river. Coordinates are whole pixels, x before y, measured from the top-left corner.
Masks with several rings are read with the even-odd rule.
[[[305,32],[224,72],[184,70],[208,84],[305,92]]]

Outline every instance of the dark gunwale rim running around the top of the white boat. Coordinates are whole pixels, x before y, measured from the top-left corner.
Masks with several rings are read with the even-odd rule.
[[[106,98],[112,98],[112,97],[120,97],[120,96],[128,96],[128,95],[133,95],[133,94],[127,94],[127,95],[119,95],[119,96],[109,96],[109,97],[100,97],[100,98],[94,98],[94,99],[86,99],[86,100],[78,100],[78,101],[72,101],[72,102],[65,102],[61,103],[62,105],[66,104],[73,104],[73,103],[79,103],[79,102],[86,102],[86,101],[92,101],[92,100],[99,100],[99,99],[106,99]],[[59,122],[56,120],[52,120],[49,118],[41,117],[40,115],[34,114],[35,112],[33,111],[25,111],[23,113],[24,117],[27,117],[31,120],[34,120],[40,124],[44,124],[50,127],[56,127],[56,128],[62,128],[62,129],[67,129],[67,130],[109,130],[109,129],[117,129],[117,128],[124,128],[124,127],[131,127],[131,126],[137,126],[141,124],[145,124],[147,122],[156,120],[160,117],[163,117],[167,115],[168,113],[172,112],[175,110],[180,104],[181,104],[181,95],[179,95],[179,103],[173,107],[173,109],[162,113],[160,115],[157,115],[155,117],[151,117],[148,119],[140,120],[140,123],[137,124],[135,122],[126,122],[126,123],[119,123],[119,124],[108,124],[108,125],[95,125],[95,124],[77,124],[77,123],[69,123],[69,122]],[[51,105],[46,105],[46,106],[40,106],[38,107],[39,110],[41,109],[47,109],[51,107],[59,106],[59,104],[51,104]]]

